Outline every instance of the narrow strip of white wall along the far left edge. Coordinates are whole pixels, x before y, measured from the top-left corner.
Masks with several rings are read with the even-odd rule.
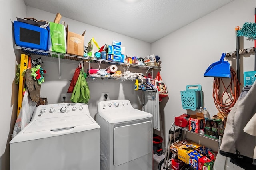
[[[26,17],[23,0],[0,1],[0,169],[10,168],[10,134],[17,115],[18,85],[15,84],[16,61],[20,57],[13,47],[12,22]]]

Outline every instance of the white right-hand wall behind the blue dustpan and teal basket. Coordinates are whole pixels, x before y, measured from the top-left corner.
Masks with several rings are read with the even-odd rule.
[[[232,1],[151,44],[151,53],[162,61],[161,76],[169,93],[160,103],[166,140],[174,117],[193,113],[182,108],[180,91],[186,90],[186,85],[202,85],[204,106],[211,116],[217,114],[212,97],[214,78],[203,77],[204,72],[222,53],[236,51],[235,27],[254,22],[255,7],[256,1]],[[240,44],[241,49],[254,47],[248,38],[241,38]],[[236,70],[236,59],[230,57],[228,61]],[[240,55],[240,83],[243,72],[253,70],[254,53]]]

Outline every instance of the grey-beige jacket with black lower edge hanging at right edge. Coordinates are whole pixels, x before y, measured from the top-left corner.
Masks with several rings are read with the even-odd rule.
[[[244,132],[244,128],[256,113],[255,94],[256,82],[252,86],[243,88],[236,104],[228,114],[220,146],[220,154],[230,157],[230,162],[246,170],[256,169],[252,164],[256,138]]]

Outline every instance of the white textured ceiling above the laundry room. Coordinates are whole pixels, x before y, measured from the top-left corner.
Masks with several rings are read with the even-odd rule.
[[[24,0],[38,8],[145,42],[186,26],[233,0]]]

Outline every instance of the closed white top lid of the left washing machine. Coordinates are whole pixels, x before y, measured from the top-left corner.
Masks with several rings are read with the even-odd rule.
[[[76,115],[67,117],[55,117],[48,119],[37,119],[30,124],[24,133],[40,132],[44,130],[58,130],[62,128],[90,125],[94,123],[88,115]]]

